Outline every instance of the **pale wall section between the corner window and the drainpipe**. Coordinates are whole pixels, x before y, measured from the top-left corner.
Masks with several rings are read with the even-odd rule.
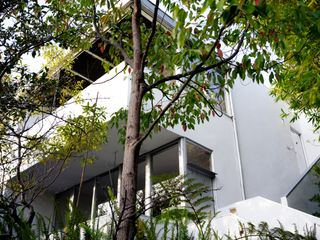
[[[214,187],[216,207],[242,200],[241,176],[237,158],[232,119],[228,116],[211,117],[209,122],[198,125],[195,130],[183,131],[181,126],[173,129],[213,151],[213,171],[217,173]]]

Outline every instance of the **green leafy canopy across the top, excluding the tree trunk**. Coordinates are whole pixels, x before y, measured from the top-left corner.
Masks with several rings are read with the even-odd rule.
[[[115,63],[124,60],[132,67],[130,9],[112,0],[66,1],[63,7],[56,0],[49,3],[71,27],[93,24],[93,32],[78,32],[81,38],[100,38],[101,48],[112,46],[109,54]],[[156,30],[149,20],[142,18],[140,22],[143,59],[148,69],[144,73],[148,87],[143,97],[142,133],[150,127],[177,124],[185,130],[193,129],[210,115],[221,114],[220,96],[235,80],[246,77],[257,83],[275,82],[274,93],[279,99],[289,100],[293,109],[298,106],[301,110],[305,103],[302,111],[318,112],[318,61],[317,54],[310,54],[318,52],[319,6],[315,1],[161,3],[172,13],[173,29],[161,26],[163,19],[159,19]],[[293,81],[296,84],[290,84]],[[173,101],[186,82],[182,97]],[[302,94],[307,96],[304,102],[300,97],[300,101],[291,101],[299,94],[291,94],[289,85],[298,88],[295,91],[308,89]],[[174,104],[164,110],[170,102]],[[123,120],[123,114],[116,116]],[[317,118],[313,119],[315,123]]]

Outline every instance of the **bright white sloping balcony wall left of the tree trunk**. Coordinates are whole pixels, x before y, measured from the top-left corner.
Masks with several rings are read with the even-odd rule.
[[[63,106],[59,107],[54,115],[33,116],[28,123],[33,126],[27,134],[45,134],[49,137],[55,133],[55,127],[63,125],[68,117],[76,117],[82,113],[82,106],[97,104],[98,107],[106,109],[106,118],[118,111],[120,108],[127,108],[130,77],[124,69],[125,63],[122,62],[110,72],[106,73],[93,84],[86,87],[77,96],[68,100]],[[36,124],[34,124],[36,122]],[[36,160],[36,159],[35,159]],[[36,164],[37,161],[25,164],[23,169]]]

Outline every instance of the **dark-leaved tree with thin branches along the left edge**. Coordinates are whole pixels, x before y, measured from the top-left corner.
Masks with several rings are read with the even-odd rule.
[[[52,137],[56,124],[70,120],[73,128],[88,130],[81,123],[88,121],[89,117],[63,119],[56,116],[55,108],[65,100],[61,93],[63,87],[57,79],[49,79],[47,69],[34,73],[21,62],[25,54],[36,56],[42,46],[53,41],[72,45],[73,36],[79,35],[74,34],[73,28],[60,24],[60,21],[50,18],[48,6],[36,0],[0,3],[1,235],[24,238],[19,228],[27,229],[35,220],[32,202],[55,181],[68,157],[79,150],[64,149],[61,161],[46,163],[41,169],[43,172],[38,172],[37,176],[32,176],[37,169],[28,174],[24,172],[26,165],[35,159],[43,160],[52,153],[52,148],[41,149],[41,146]],[[99,110],[96,109],[96,113],[98,115]],[[54,116],[56,121],[45,129],[41,122],[48,115]],[[100,123],[100,120],[93,121]],[[106,128],[103,130],[107,134]],[[85,133],[90,135],[90,130]],[[96,146],[94,141],[94,138],[90,139],[90,147]],[[90,149],[86,148],[87,151]]]

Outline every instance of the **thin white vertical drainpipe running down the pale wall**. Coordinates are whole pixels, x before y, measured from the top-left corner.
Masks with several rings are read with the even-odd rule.
[[[239,145],[239,137],[238,137],[238,131],[237,131],[237,124],[236,124],[236,117],[234,113],[234,108],[233,108],[233,101],[232,101],[232,89],[229,88],[229,101],[230,101],[230,113],[231,113],[231,119],[232,119],[232,124],[233,124],[233,133],[234,133],[234,141],[236,143],[236,149],[237,149],[237,158],[238,158],[238,165],[239,165],[239,174],[240,174],[240,187],[241,187],[241,195],[242,199],[246,199],[246,193],[245,193],[245,188],[244,188],[244,181],[243,181],[243,173],[242,173],[242,163],[241,163],[241,154],[240,154],[240,145]]]

